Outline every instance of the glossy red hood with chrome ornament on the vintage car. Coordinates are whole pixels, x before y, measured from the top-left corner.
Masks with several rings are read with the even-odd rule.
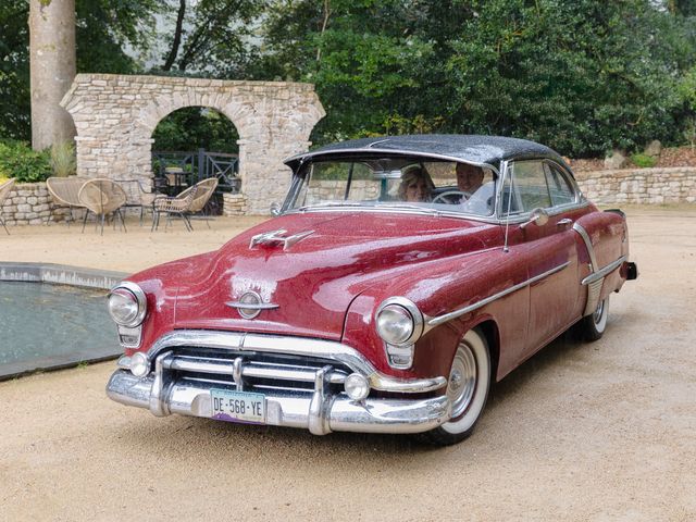
[[[339,339],[350,302],[366,288],[380,284],[388,294],[393,282],[420,279],[419,266],[427,270],[434,260],[485,248],[476,231],[492,226],[372,212],[309,212],[270,220],[184,271],[186,281],[177,282],[175,327]],[[261,234],[282,239],[252,245]],[[249,291],[277,308],[244,319],[229,303]]]

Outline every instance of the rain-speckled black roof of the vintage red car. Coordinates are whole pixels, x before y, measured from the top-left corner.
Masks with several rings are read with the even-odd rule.
[[[285,164],[295,171],[303,159],[352,152],[430,156],[492,166],[510,159],[550,158],[566,165],[558,152],[535,141],[504,136],[462,134],[423,134],[351,139],[294,156],[285,160]]]

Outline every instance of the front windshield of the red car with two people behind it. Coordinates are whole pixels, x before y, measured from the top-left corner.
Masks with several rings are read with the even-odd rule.
[[[494,171],[468,163],[412,158],[313,161],[299,177],[288,210],[407,207],[475,215],[495,210]]]

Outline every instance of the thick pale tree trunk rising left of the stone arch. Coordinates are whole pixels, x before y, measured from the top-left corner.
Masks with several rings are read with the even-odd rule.
[[[60,101],[75,78],[75,0],[30,0],[32,147],[73,141]]]

